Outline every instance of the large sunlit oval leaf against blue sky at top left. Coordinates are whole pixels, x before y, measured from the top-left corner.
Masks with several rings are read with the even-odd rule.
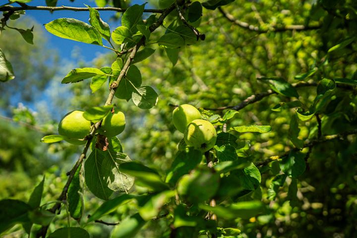
[[[55,36],[88,44],[103,46],[102,37],[94,27],[73,18],[59,18],[45,24]]]

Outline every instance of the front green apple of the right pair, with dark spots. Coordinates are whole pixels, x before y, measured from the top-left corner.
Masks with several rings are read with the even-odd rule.
[[[183,139],[188,146],[206,152],[216,144],[217,132],[211,122],[196,119],[186,127]]]

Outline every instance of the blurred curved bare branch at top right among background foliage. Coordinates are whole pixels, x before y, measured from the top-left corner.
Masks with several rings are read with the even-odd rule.
[[[240,21],[235,19],[233,15],[225,12],[222,7],[218,7],[218,10],[222,13],[222,15],[228,19],[230,22],[234,23],[235,25],[250,30],[255,31],[257,33],[267,33],[267,32],[283,32],[283,31],[306,31],[306,30],[316,30],[321,28],[321,25],[316,26],[305,26],[305,25],[287,25],[284,27],[271,27],[269,30],[262,30],[258,26],[251,25],[247,22]]]

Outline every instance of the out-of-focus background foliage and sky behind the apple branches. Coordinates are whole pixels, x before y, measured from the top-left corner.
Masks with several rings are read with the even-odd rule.
[[[235,106],[252,94],[270,89],[263,80],[257,79],[263,76],[279,76],[290,83],[304,80],[317,84],[323,78],[357,80],[357,4],[354,0],[236,0],[222,9],[231,18],[257,26],[262,32],[230,22],[218,9],[204,10],[198,29],[206,34],[205,41],[181,49],[175,66],[163,48],[153,46],[155,54],[137,66],[143,85],[157,90],[158,105],[151,110],[140,110],[131,101],[115,100],[117,108],[126,117],[126,128],[119,139],[124,152],[133,160],[163,174],[168,170],[182,138],[172,123],[171,105]],[[24,25],[28,23],[26,19],[16,22]],[[173,16],[167,18],[164,26],[168,27],[172,19]],[[274,29],[292,24],[318,26],[318,29],[274,32]],[[35,29],[35,36],[41,40],[33,46],[15,36],[17,32],[6,31],[0,37],[0,47],[12,62],[16,75],[14,80],[0,86],[0,199],[27,200],[33,184],[45,175],[43,201],[50,202],[60,194],[65,173],[81,149],[66,142],[42,144],[40,138],[57,133],[61,115],[75,109],[101,106],[108,93],[106,86],[92,94],[89,80],[60,87],[60,79],[74,67],[109,66],[116,56],[108,53],[91,62],[67,63],[64,68],[59,68],[57,53],[47,46],[46,40],[42,40],[43,27]],[[155,32],[154,37],[162,34],[161,30]],[[331,47],[350,38],[354,38],[351,44],[328,53]],[[310,70],[316,72],[301,79],[301,75]],[[317,95],[316,87],[301,87],[298,94],[308,111]],[[319,113],[322,135],[357,128],[356,94],[356,85],[336,88],[331,102]],[[39,103],[39,99],[51,100],[51,103]],[[255,162],[294,148],[289,128],[295,109],[271,110],[278,103],[290,101],[293,100],[273,94],[240,110],[230,122],[230,126],[272,126],[272,131],[265,134],[236,134],[240,140],[250,140]],[[13,102],[22,102],[26,106]],[[224,111],[216,113],[223,115]],[[308,121],[298,120],[298,138],[317,138],[317,124],[316,117]],[[278,185],[273,199],[269,188],[280,173],[279,165],[272,162],[259,168],[262,174],[260,189],[240,200],[261,198],[269,204],[272,213],[231,221],[232,226],[242,231],[242,237],[357,236],[356,136],[338,137],[310,150],[305,148],[303,152],[308,153],[306,171],[298,180],[287,178],[282,186]],[[289,185],[296,182],[297,199],[290,199]],[[84,195],[85,214],[88,215],[86,211],[95,209],[101,201],[90,192]],[[120,221],[132,214],[132,208],[136,206],[132,203],[121,206],[105,220]],[[65,219],[62,221],[65,223]],[[61,223],[54,224],[60,226]],[[170,219],[151,221],[138,237],[169,237],[166,233],[169,225]],[[94,238],[109,237],[112,229],[103,224],[87,228]],[[18,227],[11,231],[16,230]],[[20,231],[14,235],[21,236],[24,235]]]

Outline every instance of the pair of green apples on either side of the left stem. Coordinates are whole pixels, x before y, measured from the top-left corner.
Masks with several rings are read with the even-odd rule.
[[[74,145],[83,145],[90,133],[91,122],[83,117],[83,111],[75,110],[67,113],[60,120],[59,134],[65,141]],[[125,116],[122,112],[109,113],[102,121],[100,133],[108,138],[119,135],[125,128]]]

